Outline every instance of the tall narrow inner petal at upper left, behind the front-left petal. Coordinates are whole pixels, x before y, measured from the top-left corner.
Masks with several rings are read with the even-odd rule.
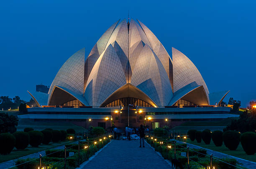
[[[89,56],[87,57],[84,65],[84,89],[87,83],[87,79],[92,71],[92,67],[94,66],[97,59],[100,57],[102,52],[105,50],[105,47],[108,43],[108,40],[113,33],[116,25],[118,24],[119,20],[115,22],[108,30],[100,37],[97,43],[92,48]]]

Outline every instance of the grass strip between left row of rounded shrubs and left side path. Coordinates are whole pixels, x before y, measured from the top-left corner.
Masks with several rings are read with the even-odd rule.
[[[0,155],[0,163],[1,162],[5,162],[5,161],[9,161],[12,159],[16,159],[19,157],[23,157],[29,154],[33,154],[36,152],[40,152],[46,149],[52,149],[54,147],[58,147],[64,144],[68,144],[70,143],[70,141],[65,141],[65,142],[59,142],[59,143],[50,143],[49,145],[45,145],[45,144],[41,144],[39,147],[27,147],[24,150],[13,150],[10,154],[8,155]],[[38,154],[39,157],[39,154]]]

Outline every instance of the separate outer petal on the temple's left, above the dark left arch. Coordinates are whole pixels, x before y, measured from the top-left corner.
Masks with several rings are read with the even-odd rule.
[[[49,89],[48,103],[54,86],[65,87],[77,94],[83,94],[84,89],[84,48],[61,66]]]

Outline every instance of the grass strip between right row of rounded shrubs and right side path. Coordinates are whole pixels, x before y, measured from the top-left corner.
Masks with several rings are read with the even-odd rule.
[[[204,147],[207,149],[211,149],[214,150],[216,152],[221,152],[224,154],[228,154],[234,157],[238,157],[241,159],[246,159],[252,162],[256,162],[256,154],[254,155],[247,155],[244,151],[243,151],[243,147],[241,146],[241,144],[238,145],[237,149],[234,151],[229,150],[227,147],[225,147],[224,143],[221,147],[216,147],[215,144],[211,141],[210,144],[205,144],[203,141],[201,143],[197,143],[197,141],[195,140],[194,142],[192,142],[190,139],[187,139],[187,141],[185,141],[187,143],[190,144],[194,144],[200,147]]]

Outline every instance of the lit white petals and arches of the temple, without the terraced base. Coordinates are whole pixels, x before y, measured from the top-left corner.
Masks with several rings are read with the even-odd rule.
[[[209,94],[195,65],[172,48],[170,56],[142,22],[117,21],[90,54],[72,55],[48,94],[31,93],[38,107],[203,107],[229,91]]]

